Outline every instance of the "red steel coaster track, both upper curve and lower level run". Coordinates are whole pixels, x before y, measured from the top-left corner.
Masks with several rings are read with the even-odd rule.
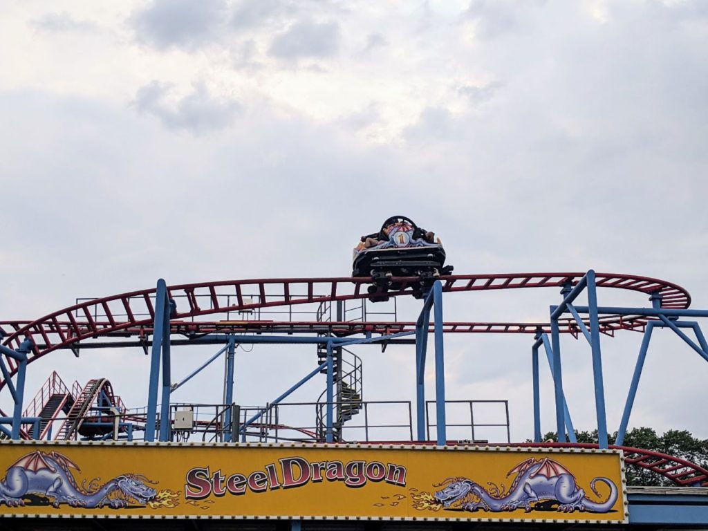
[[[532,287],[566,287],[578,283],[585,273],[508,273],[493,275],[450,275],[441,277],[444,292],[476,292],[487,290],[512,290]],[[596,273],[598,287],[615,288],[641,292],[646,295],[661,296],[661,305],[668,309],[689,307],[689,293],[678,285],[656,278],[615,273]],[[392,297],[413,295],[409,285],[416,278],[396,278],[402,285],[401,290],[390,292]],[[255,309],[297,306],[369,297],[366,291],[370,278],[285,278],[261,280],[227,280],[222,282],[200,282],[168,287],[171,299],[185,300],[188,307],[177,308],[171,315],[171,327],[174,333],[208,333],[228,329],[227,324],[219,321],[186,321],[200,316],[214,316],[229,312],[244,312]],[[76,343],[98,336],[140,336],[152,332],[154,321],[155,289],[91,299],[74,306],[53,312],[35,321],[23,323],[8,321],[7,328],[13,329],[5,338],[4,345],[18,348],[25,338],[33,341],[33,351],[28,355],[28,362],[59,348],[72,348]],[[251,299],[246,294],[257,294]],[[304,295],[297,295],[304,294]],[[646,318],[603,316],[600,330],[612,335],[619,329],[643,329]],[[319,331],[326,327],[328,331],[345,336],[354,333],[394,333],[412,330],[413,323],[322,323],[301,321],[290,322],[287,326],[299,325],[296,331]],[[251,327],[256,326],[258,329]],[[282,324],[280,324],[282,328]],[[561,322],[563,331],[577,335],[574,321],[565,319]],[[318,330],[315,330],[318,328]],[[548,330],[547,323],[447,323],[448,332],[481,333],[535,333],[539,329]],[[278,323],[242,324],[241,331],[277,331]],[[17,362],[6,357],[10,374],[17,372]],[[5,380],[0,380],[0,389]]]

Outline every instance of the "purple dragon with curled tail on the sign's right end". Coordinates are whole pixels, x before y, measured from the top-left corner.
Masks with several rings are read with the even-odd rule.
[[[575,476],[562,464],[547,457],[544,459],[531,457],[510,470],[507,477],[511,474],[518,475],[505,493],[496,486],[488,491],[471,479],[448,478],[439,485],[449,483],[444,489],[435,493],[435,501],[448,508],[452,503],[472,495],[479,498],[479,501],[463,501],[462,509],[501,512],[523,507],[527,513],[531,510],[531,503],[538,501],[556,501],[559,503],[558,510],[563,513],[572,513],[575,510],[607,513],[617,501],[617,486],[610,479],[596,477],[590,482],[590,489],[595,496],[600,496],[595,489],[598,481],[610,487],[610,496],[607,500],[600,503],[591,501],[586,497],[585,491],[578,486]]]

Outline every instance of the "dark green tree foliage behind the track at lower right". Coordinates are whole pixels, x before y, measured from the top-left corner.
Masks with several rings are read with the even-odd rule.
[[[578,431],[576,430],[578,442],[598,442],[598,430]],[[607,434],[610,445],[615,444],[617,432]],[[557,441],[555,432],[546,433],[543,440]],[[673,457],[680,457],[708,469],[708,439],[701,440],[695,438],[687,430],[668,430],[663,435],[658,435],[653,428],[632,428],[624,435],[624,446],[641,448],[642,450],[652,450],[661,452]],[[641,467],[627,467],[627,484],[643,486],[673,486],[670,479],[666,479],[660,474],[651,472]]]

